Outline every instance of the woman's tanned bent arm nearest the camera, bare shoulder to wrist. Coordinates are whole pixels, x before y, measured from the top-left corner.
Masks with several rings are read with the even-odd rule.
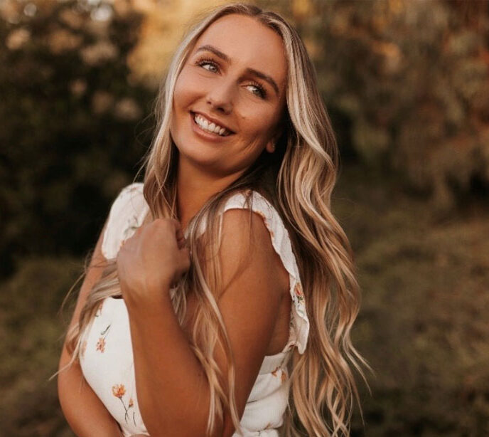
[[[288,274],[274,252],[264,222],[257,214],[252,214],[256,244],[250,245],[247,220],[248,212],[244,210],[227,211],[224,215],[219,256],[222,283],[226,288],[217,302],[236,362],[235,390],[239,418],[267,353],[278,317],[279,302],[287,290],[283,279],[288,282]],[[168,236],[160,238],[156,246],[161,247],[164,241],[169,241]],[[134,251],[142,258],[144,240],[157,241],[159,238],[156,233],[149,232],[145,236],[141,231],[139,239],[141,246],[134,245],[127,253]],[[171,251],[171,247],[166,250]],[[243,253],[249,255],[250,262],[240,275],[236,275]],[[161,257],[156,259],[160,269],[161,265],[166,265]],[[134,268],[134,258],[127,264]],[[139,271],[139,277],[155,278],[156,267],[148,267],[149,261],[141,260],[141,264],[149,270]],[[131,285],[134,287],[135,284]],[[145,289],[141,284],[136,290],[129,286],[124,290],[122,285],[122,290],[123,294],[127,293],[124,300],[129,302],[127,307],[137,396],[146,428],[154,437],[204,436],[210,388],[201,364],[173,312],[168,287],[162,289],[160,283],[157,289]],[[145,299],[144,295],[148,295],[148,298]],[[215,360],[223,374],[227,375],[227,361],[221,349],[216,350]],[[213,436],[229,437],[234,431],[230,412],[225,411],[224,421],[217,423]]]

